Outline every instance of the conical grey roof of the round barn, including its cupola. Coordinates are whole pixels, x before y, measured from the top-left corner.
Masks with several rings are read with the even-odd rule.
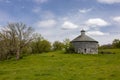
[[[98,42],[91,37],[85,35],[85,31],[81,30],[81,35],[73,39],[71,42]]]

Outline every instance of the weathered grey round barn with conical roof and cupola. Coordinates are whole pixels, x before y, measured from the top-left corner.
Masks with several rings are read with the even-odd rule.
[[[98,41],[90,38],[85,34],[84,30],[81,30],[81,35],[71,41],[75,52],[83,54],[97,54],[98,53]]]

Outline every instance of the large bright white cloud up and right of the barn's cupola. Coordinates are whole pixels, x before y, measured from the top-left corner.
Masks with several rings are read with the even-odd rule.
[[[106,22],[105,20],[101,19],[101,18],[92,18],[92,19],[88,19],[86,22],[85,22],[86,25],[88,26],[94,26],[94,27],[97,27],[97,26],[107,26],[109,25],[108,22]]]

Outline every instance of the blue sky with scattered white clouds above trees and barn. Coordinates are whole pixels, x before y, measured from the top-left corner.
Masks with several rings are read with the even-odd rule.
[[[86,34],[100,45],[120,39],[120,0],[0,0],[0,29],[22,22],[54,42]]]

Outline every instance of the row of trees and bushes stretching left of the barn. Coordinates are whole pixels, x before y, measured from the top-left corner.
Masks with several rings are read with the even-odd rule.
[[[19,60],[26,55],[56,50],[72,52],[70,40],[51,43],[24,23],[8,23],[0,30],[0,60],[11,58]]]

